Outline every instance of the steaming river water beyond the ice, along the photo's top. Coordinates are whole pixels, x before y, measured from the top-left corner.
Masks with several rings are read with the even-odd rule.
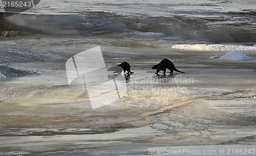
[[[0,34],[152,32],[172,41],[255,42],[255,15],[253,1],[44,1],[4,21],[2,15]]]

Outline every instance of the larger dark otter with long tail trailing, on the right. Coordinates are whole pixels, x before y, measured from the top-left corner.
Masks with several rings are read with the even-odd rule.
[[[163,74],[165,74],[166,68],[168,70],[170,70],[170,73],[173,73],[174,71],[180,72],[180,73],[185,73],[185,72],[181,72],[181,71],[177,70],[174,66],[174,63],[166,58],[161,60],[161,62],[158,63],[157,65],[154,65],[152,69],[157,70],[156,74],[158,74],[160,71],[163,71]]]

